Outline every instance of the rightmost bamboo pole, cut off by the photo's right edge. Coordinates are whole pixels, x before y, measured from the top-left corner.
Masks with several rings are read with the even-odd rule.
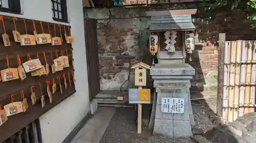
[[[252,67],[251,67],[251,84],[256,84],[256,41],[253,41],[252,45]],[[255,104],[255,93],[256,93],[256,87],[251,86],[250,87],[250,106],[249,112],[254,112],[255,108],[253,105]]]

